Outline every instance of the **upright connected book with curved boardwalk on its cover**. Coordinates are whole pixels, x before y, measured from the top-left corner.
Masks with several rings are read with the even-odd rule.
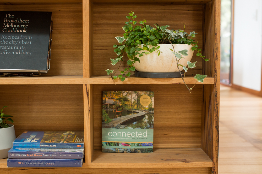
[[[103,91],[102,152],[153,152],[154,92]]]

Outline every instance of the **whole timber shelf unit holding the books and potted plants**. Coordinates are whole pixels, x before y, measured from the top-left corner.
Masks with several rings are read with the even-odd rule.
[[[13,115],[16,136],[24,130],[84,130],[82,168],[8,168],[1,173],[216,173],[220,89],[220,0],[0,0],[1,11],[52,11],[51,68],[40,77],[0,78],[0,106]],[[196,53],[195,74],[208,77],[190,94],[181,78],[106,76],[115,69],[115,36],[128,12],[137,21],[195,31],[208,62]],[[124,62],[123,67],[127,66]],[[191,85],[192,84],[192,85]],[[154,91],[154,152],[102,153],[102,91]]]

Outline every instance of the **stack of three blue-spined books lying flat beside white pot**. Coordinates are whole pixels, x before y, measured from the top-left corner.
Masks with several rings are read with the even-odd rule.
[[[8,167],[82,167],[84,132],[24,131],[8,151]]]

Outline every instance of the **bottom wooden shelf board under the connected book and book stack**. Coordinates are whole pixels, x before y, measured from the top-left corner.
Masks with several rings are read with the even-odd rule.
[[[83,163],[83,168],[200,168],[212,165],[201,148],[154,149],[153,153],[105,153],[95,149],[92,163]],[[6,158],[0,159],[0,168],[7,168]]]

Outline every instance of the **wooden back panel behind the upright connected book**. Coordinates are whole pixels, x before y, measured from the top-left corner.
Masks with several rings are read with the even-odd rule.
[[[154,91],[154,149],[200,148],[202,87],[184,85],[94,85],[94,148],[102,142],[102,91]]]

